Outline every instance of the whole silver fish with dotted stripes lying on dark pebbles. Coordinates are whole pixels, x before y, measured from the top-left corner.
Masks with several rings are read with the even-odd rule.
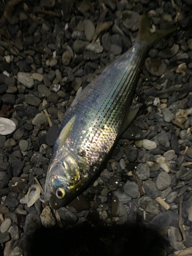
[[[147,51],[176,27],[150,30],[150,20],[143,14],[133,47],[91,81],[67,110],[45,184],[45,203],[53,209],[75,199],[99,172],[126,126]]]

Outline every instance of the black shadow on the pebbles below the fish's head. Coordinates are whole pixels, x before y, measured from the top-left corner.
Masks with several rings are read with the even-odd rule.
[[[67,229],[41,228],[26,241],[28,256],[163,256],[167,241],[152,229],[137,225],[106,227],[104,222]],[[24,244],[23,244],[24,245]]]

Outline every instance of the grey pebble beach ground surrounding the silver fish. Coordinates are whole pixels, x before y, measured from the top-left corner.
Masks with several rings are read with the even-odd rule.
[[[28,0],[0,20],[0,117],[16,124],[0,135],[0,254],[192,255],[191,5]],[[179,28],[148,52],[136,119],[94,183],[58,209],[58,228],[43,195],[28,207],[26,194],[36,182],[45,188],[66,110],[131,48],[144,9],[152,29]]]

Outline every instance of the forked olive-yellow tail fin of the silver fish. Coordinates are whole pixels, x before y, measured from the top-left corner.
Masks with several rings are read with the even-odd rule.
[[[163,38],[164,36],[174,32],[178,27],[174,26],[170,29],[159,29],[155,32],[151,32],[151,26],[150,26],[150,19],[147,18],[146,14],[143,13],[141,18],[141,25],[137,34],[136,42],[138,41],[145,41],[148,43],[148,45],[151,47],[155,44],[158,40]]]

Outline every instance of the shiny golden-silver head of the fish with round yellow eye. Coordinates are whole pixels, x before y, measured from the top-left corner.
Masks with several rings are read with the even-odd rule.
[[[79,167],[68,152],[51,160],[45,185],[45,204],[53,209],[66,205],[74,197],[79,181]]]

